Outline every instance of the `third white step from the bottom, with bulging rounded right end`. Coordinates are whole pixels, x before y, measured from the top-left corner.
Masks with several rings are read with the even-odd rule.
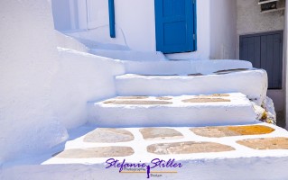
[[[240,92],[260,104],[267,89],[265,70],[254,69],[204,76],[116,76],[118,95],[181,95]]]

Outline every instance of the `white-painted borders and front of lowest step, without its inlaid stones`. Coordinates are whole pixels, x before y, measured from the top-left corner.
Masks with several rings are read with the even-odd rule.
[[[176,174],[162,174],[160,179],[195,179],[195,180],[283,180],[288,176],[286,166],[288,166],[288,153],[285,149],[257,150],[246,148],[236,143],[238,139],[254,138],[274,138],[288,137],[287,131],[271,124],[259,123],[259,125],[270,126],[274,132],[265,135],[237,136],[226,138],[205,138],[197,136],[188,127],[177,128],[183,139],[158,139],[144,140],[139,128],[127,128],[134,134],[135,139],[129,142],[114,143],[116,146],[130,146],[135,149],[135,154],[128,157],[114,157],[121,163],[125,159],[126,163],[150,163],[153,158],[168,160],[174,158],[175,162],[181,163],[181,168],[160,168],[156,167],[153,171],[177,171]],[[106,168],[108,158],[59,158],[51,157],[51,154],[60,149],[71,148],[92,148],[110,146],[110,143],[87,143],[83,139],[85,134],[94,130],[95,127],[84,126],[70,132],[71,139],[66,143],[65,148],[61,147],[47,153],[45,156],[35,159],[26,159],[21,166],[5,165],[0,171],[2,179],[10,180],[34,180],[34,179],[98,179],[99,177],[107,180],[113,179],[146,179],[144,173],[119,173],[119,168]],[[182,155],[154,155],[147,153],[147,146],[153,143],[167,143],[177,141],[213,141],[226,144],[236,150],[216,153],[193,153]],[[145,171],[145,169],[144,169]],[[15,173],[16,172],[16,173]],[[161,173],[159,173],[161,174]],[[153,177],[151,177],[153,179]]]

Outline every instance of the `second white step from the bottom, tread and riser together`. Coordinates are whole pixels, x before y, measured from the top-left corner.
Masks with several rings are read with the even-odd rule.
[[[228,95],[228,96],[227,96]],[[246,95],[181,95],[158,100],[157,97],[116,97],[88,103],[89,122],[98,127],[200,126],[255,122],[255,112]],[[164,99],[166,99],[165,97]],[[170,99],[171,98],[171,99]],[[184,103],[195,98],[221,102]]]

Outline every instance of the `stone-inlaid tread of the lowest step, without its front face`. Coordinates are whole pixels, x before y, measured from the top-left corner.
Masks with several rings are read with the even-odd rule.
[[[218,126],[201,128],[97,128],[79,139],[70,140],[67,148],[51,159],[89,159],[98,157],[133,157],[140,155],[193,155],[247,151],[287,150],[288,133],[272,124]],[[254,152],[258,156],[259,152]],[[216,153],[216,154],[215,154]],[[145,154],[145,155],[144,155]]]

